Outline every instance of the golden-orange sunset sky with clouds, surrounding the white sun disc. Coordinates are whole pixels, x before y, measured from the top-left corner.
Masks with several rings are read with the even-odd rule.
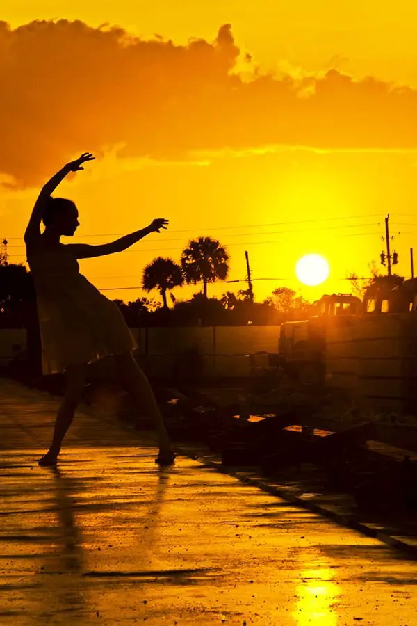
[[[89,151],[96,161],[56,192],[79,207],[74,241],[170,220],[121,254],[80,262],[108,297],[142,296],[145,264],[178,260],[207,235],[227,247],[230,280],[244,281],[249,252],[257,300],[284,285],[309,299],[350,291],[352,271],[367,276],[373,261],[386,271],[387,214],[398,273],[409,276],[413,1],[394,11],[374,0],[3,0],[1,19],[0,237],[10,262],[25,260],[39,188]],[[330,266],[316,288],[295,277],[310,253]]]

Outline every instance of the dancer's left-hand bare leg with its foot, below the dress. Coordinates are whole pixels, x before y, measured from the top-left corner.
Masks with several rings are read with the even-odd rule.
[[[86,368],[87,366],[85,364],[79,363],[72,364],[67,367],[67,387],[65,390],[63,403],[61,404],[58,410],[58,415],[56,416],[54,436],[52,438],[51,447],[49,448],[47,454],[45,454],[45,456],[42,456],[42,458],[40,459],[40,465],[54,465],[56,463],[56,459],[58,458],[58,454],[60,453],[63,439],[67,433],[68,428],[70,428],[72,424],[72,419],[74,419],[74,412],[76,410],[76,407],[79,405],[79,402],[81,401],[81,397],[83,395]]]

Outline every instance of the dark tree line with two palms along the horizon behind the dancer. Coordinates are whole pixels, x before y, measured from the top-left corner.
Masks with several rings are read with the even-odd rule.
[[[161,296],[141,297],[128,303],[114,300],[130,326],[169,324],[188,326],[279,324],[286,319],[301,319],[311,304],[293,289],[279,287],[263,302],[252,302],[248,290],[224,291],[221,298],[208,297],[208,284],[226,280],[229,254],[217,239],[191,239],[179,262],[156,257],[145,266],[142,288]],[[177,300],[172,289],[184,284],[202,284],[202,290],[188,300]],[[168,305],[168,298],[171,306]],[[25,327],[35,316],[36,295],[31,273],[23,264],[0,264],[0,325]]]

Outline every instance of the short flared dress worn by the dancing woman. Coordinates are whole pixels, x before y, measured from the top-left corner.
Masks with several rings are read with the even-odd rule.
[[[80,274],[63,243],[28,252],[27,262],[37,295],[43,374],[137,348],[119,307]]]

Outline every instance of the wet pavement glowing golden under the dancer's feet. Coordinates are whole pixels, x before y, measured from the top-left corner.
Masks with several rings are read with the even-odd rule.
[[[58,402],[0,380],[0,624],[417,624],[417,562],[79,411],[40,468]]]

